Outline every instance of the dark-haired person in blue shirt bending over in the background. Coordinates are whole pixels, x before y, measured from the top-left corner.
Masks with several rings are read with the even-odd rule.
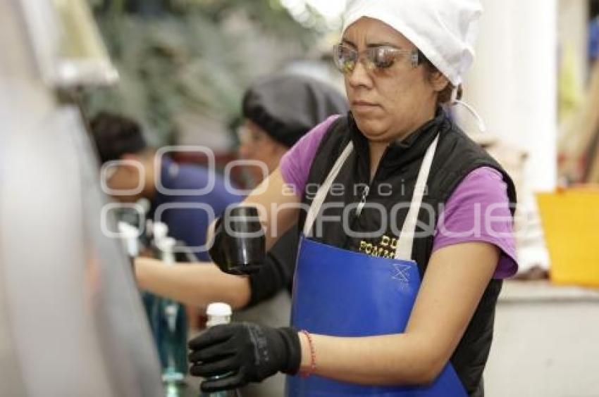
[[[214,188],[206,194],[172,193],[175,189],[204,189],[211,177],[209,170],[199,165],[175,163],[168,156],[156,158],[156,149],[147,145],[140,125],[123,115],[101,112],[89,125],[101,163],[118,161],[106,168],[104,181],[106,187],[115,192],[113,198],[123,203],[147,198],[151,203],[147,219],[165,223],[170,237],[182,241],[200,260],[208,260],[206,252],[194,247],[206,243],[206,230],[202,229],[202,225],[207,227],[209,224],[209,213],[199,208],[168,207],[203,203],[218,216],[228,205],[241,201],[242,196],[228,191],[218,175],[214,175]],[[159,162],[158,167],[156,161]],[[160,175],[156,175],[156,170]],[[159,181],[164,189],[157,189]],[[137,187],[141,189],[134,193]],[[155,215],[160,215],[159,219]]]

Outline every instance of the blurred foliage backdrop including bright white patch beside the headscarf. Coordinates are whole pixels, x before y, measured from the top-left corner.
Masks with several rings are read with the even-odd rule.
[[[121,84],[86,92],[85,108],[142,120],[157,144],[234,147],[228,126],[258,77],[293,70],[342,83],[331,47],[345,1],[91,3]]]

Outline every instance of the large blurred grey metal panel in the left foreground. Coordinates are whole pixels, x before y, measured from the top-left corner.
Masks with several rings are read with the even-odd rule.
[[[0,396],[163,396],[80,115],[39,78],[18,3],[0,1]]]

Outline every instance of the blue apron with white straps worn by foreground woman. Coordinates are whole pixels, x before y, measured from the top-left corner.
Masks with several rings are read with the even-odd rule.
[[[420,288],[418,265],[411,260],[416,220],[437,141],[428,148],[395,258],[379,258],[309,239],[328,190],[353,150],[349,144],[316,194],[300,241],[293,284],[291,323],[330,336],[376,336],[405,331]],[[318,365],[318,362],[316,363]],[[447,363],[430,386],[362,386],[312,375],[288,377],[288,397],[465,397]]]

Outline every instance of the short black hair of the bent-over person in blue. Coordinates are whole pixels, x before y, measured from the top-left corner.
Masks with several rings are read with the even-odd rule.
[[[89,127],[102,163],[118,160],[124,154],[140,153],[147,147],[140,125],[122,115],[100,112]]]

